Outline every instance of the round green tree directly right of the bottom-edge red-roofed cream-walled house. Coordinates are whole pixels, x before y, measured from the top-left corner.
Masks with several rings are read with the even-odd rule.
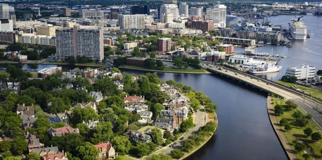
[[[131,142],[125,136],[117,136],[111,140],[111,143],[119,155],[126,155],[131,149]]]

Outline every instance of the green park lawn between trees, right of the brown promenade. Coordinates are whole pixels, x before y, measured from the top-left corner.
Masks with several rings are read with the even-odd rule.
[[[279,100],[279,99],[274,99],[274,105],[277,104],[277,101],[279,101],[279,103],[281,105],[285,105],[285,100]],[[300,109],[297,109],[300,110]],[[279,122],[282,118],[285,118],[287,120],[289,120],[289,124],[291,125],[292,129],[290,131],[285,131],[284,135],[287,138],[289,144],[291,145],[291,147],[294,150],[294,145],[292,143],[293,140],[300,140],[303,141],[307,148],[311,148],[310,151],[312,152],[313,155],[311,155],[310,159],[322,159],[321,157],[321,153],[320,150],[322,149],[322,140],[320,141],[313,141],[311,139],[311,136],[307,137],[307,135],[304,134],[303,130],[306,128],[311,128],[314,132],[318,132],[318,130],[315,128],[314,124],[312,122],[308,123],[305,127],[298,127],[295,125],[295,118],[292,117],[292,114],[294,113],[294,111],[284,111],[284,114],[281,116],[276,116],[277,121]],[[284,129],[284,127],[281,127],[281,129]],[[296,153],[296,156],[298,157],[298,159],[303,159],[302,155],[304,154],[304,152],[302,151],[301,153]]]

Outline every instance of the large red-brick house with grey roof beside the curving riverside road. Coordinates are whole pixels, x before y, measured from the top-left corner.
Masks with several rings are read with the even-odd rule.
[[[180,125],[183,120],[188,117],[188,110],[161,110],[160,114],[165,116],[168,119],[171,119],[175,124]]]

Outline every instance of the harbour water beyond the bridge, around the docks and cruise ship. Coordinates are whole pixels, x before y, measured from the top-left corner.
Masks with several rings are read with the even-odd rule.
[[[282,25],[282,27],[289,29],[288,22],[291,19],[296,19],[294,15],[279,15],[275,17],[270,17],[270,22],[273,25]],[[273,54],[283,55],[286,58],[280,58],[279,65],[283,66],[280,72],[276,73],[268,73],[262,74],[264,78],[269,80],[277,80],[282,78],[285,75],[286,69],[288,67],[295,67],[301,64],[306,64],[310,66],[316,67],[316,71],[318,69],[322,69],[322,17],[305,15],[302,18],[305,25],[308,27],[307,33],[310,35],[310,38],[306,40],[290,40],[293,44],[293,47],[287,48],[282,45],[265,45],[264,47],[255,48],[258,53],[271,53],[273,49]],[[308,48],[308,49],[305,49]],[[244,52],[243,48],[235,48],[236,52]],[[291,58],[289,58],[291,56]]]

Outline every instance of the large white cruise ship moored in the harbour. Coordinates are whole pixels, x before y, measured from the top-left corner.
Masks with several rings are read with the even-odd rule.
[[[301,17],[297,17],[297,20],[291,20],[291,22],[289,22],[289,32],[290,35],[292,36],[293,39],[295,40],[305,40],[307,37],[307,26],[304,25],[304,23],[302,22]]]

